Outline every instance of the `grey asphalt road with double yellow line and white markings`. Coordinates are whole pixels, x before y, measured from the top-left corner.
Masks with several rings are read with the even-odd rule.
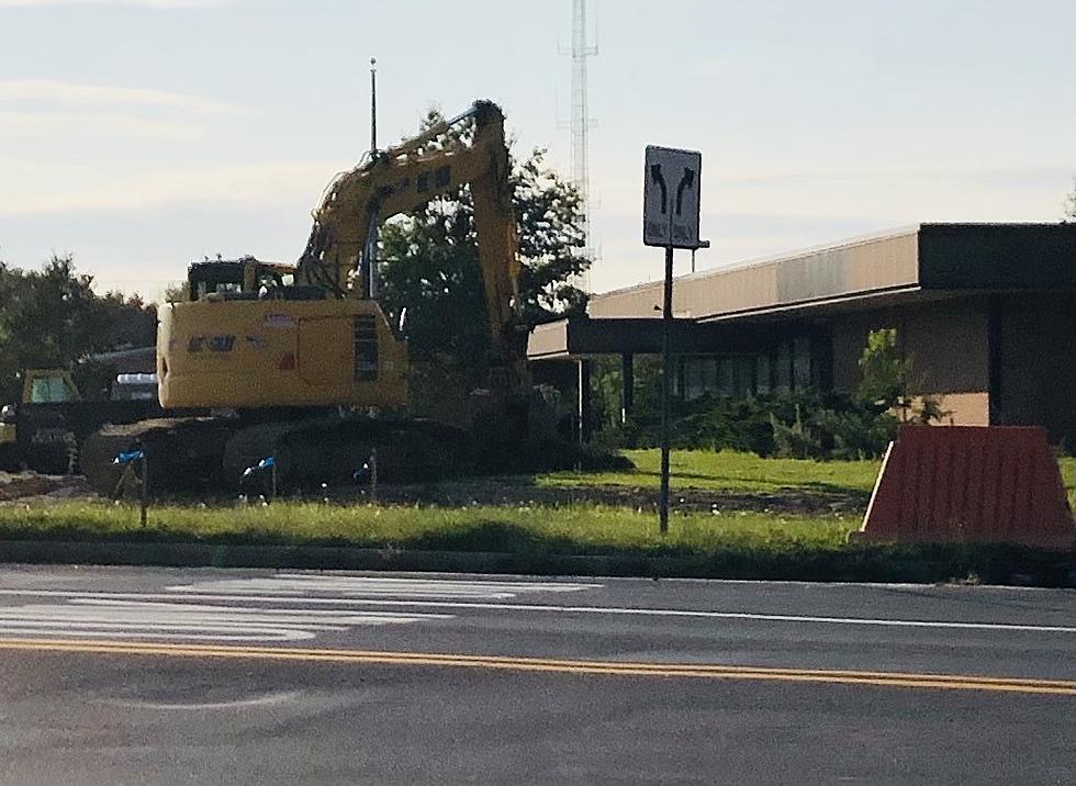
[[[0,566],[0,784],[1076,783],[1076,593]]]

